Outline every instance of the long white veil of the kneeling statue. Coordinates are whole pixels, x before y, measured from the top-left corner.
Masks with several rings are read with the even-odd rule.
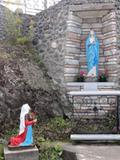
[[[21,113],[20,113],[19,134],[22,134],[25,130],[25,115],[28,114],[29,111],[30,111],[30,106],[28,104],[24,104],[21,108]]]

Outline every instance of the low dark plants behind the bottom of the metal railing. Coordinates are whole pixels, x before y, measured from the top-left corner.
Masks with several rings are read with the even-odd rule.
[[[112,111],[99,119],[81,119],[74,124],[73,133],[115,133],[116,132],[116,112]]]

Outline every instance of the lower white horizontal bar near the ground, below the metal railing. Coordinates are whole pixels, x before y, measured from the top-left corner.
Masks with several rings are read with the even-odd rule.
[[[120,134],[71,134],[73,141],[120,141]]]

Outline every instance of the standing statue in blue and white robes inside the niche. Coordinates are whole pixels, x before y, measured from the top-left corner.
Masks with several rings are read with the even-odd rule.
[[[88,77],[98,76],[98,63],[99,63],[99,41],[95,32],[91,29],[86,40],[86,56]]]

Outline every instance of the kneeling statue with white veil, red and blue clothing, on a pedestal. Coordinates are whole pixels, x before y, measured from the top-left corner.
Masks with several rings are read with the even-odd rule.
[[[34,116],[30,113],[30,106],[24,104],[20,113],[19,134],[11,137],[8,146],[31,146],[33,144],[32,125],[37,122]]]

